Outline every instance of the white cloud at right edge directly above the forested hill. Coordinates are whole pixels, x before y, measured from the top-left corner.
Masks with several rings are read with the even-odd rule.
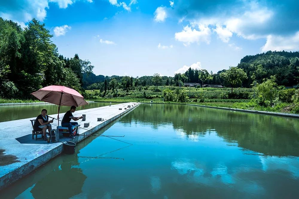
[[[262,52],[268,50],[276,51],[297,51],[299,50],[299,31],[293,36],[282,37],[282,36],[267,36],[266,44],[261,47]]]

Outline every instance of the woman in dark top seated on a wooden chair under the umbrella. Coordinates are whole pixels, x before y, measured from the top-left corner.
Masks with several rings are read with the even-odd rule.
[[[47,115],[47,110],[42,109],[42,114],[38,115],[35,119],[33,129],[35,131],[42,131],[44,140],[47,140],[46,130],[48,129],[49,133],[51,132],[52,126],[50,123],[53,122],[53,119],[48,121],[49,117]]]

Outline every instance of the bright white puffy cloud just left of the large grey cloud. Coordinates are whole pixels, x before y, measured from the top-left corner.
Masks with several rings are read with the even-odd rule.
[[[191,24],[191,26],[194,25]],[[178,41],[184,42],[185,46],[188,46],[190,45],[190,43],[195,42],[197,44],[200,44],[201,42],[210,44],[210,35],[211,31],[208,27],[199,25],[199,30],[196,30],[195,28],[192,29],[190,26],[187,25],[181,32],[175,33],[175,38]]]

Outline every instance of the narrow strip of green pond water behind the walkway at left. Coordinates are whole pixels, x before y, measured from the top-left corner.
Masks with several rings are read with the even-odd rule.
[[[89,104],[77,107],[76,110],[91,109],[108,106],[110,102],[89,102]],[[119,104],[112,102],[111,104]],[[55,104],[28,104],[28,105],[5,105],[0,106],[0,122],[33,118],[39,115],[42,109],[47,109],[48,115],[58,113],[58,105]],[[67,112],[68,106],[61,106],[60,113]]]

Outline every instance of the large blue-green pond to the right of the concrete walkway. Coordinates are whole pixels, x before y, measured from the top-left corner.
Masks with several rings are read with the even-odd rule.
[[[141,104],[3,198],[297,198],[299,120]]]

